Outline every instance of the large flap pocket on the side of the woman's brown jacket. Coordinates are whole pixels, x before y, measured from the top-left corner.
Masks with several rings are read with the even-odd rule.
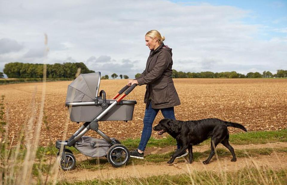
[[[167,96],[167,83],[152,84],[153,101],[155,104],[169,102]]]

